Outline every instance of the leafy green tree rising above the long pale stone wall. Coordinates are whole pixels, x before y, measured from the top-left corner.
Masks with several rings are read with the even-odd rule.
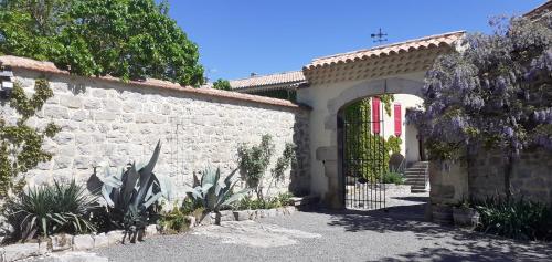
[[[0,53],[79,75],[201,85],[198,46],[153,0],[6,0]]]

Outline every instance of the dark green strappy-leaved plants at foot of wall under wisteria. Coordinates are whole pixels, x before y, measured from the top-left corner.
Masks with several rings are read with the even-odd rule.
[[[552,208],[523,198],[490,197],[475,203],[477,230],[522,240],[552,239]]]

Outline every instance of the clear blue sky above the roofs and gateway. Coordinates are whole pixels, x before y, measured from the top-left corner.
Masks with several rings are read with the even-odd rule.
[[[490,32],[489,18],[546,0],[172,0],[211,81],[300,70],[314,57],[449,31]]]

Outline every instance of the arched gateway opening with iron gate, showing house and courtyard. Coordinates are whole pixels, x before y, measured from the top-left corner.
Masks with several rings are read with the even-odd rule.
[[[422,98],[410,94],[378,94],[343,105],[337,114],[338,177],[342,207],[385,209],[392,192],[422,187],[426,176],[407,169],[421,163],[417,129],[405,123],[405,111]],[[404,185],[406,184],[406,185]],[[420,185],[418,185],[420,184]],[[425,189],[423,186],[421,189]]]

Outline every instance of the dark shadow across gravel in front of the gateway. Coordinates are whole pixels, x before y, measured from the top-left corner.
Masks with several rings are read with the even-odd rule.
[[[416,239],[433,243],[378,261],[550,261],[552,258],[552,243],[513,241],[425,222],[424,208],[425,203],[392,207],[389,212],[328,210],[322,213],[331,216],[330,227],[346,232],[411,232]]]

